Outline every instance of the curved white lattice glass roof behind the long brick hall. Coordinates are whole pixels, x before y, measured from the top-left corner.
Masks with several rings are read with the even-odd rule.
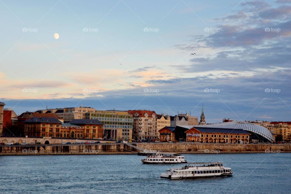
[[[268,139],[270,142],[273,142],[274,138],[269,130],[261,125],[257,125],[245,121],[232,121],[232,122],[222,122],[217,124],[210,125],[196,125],[199,127],[216,127],[216,128],[228,128],[228,129],[243,129],[246,131],[254,132],[256,134],[262,135],[264,138]]]

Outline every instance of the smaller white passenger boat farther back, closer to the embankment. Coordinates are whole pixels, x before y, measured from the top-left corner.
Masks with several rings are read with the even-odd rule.
[[[146,156],[145,159],[142,159],[142,162],[144,164],[159,164],[159,163],[176,164],[176,163],[187,163],[187,160],[185,160],[184,156],[180,156],[180,154],[158,152]]]

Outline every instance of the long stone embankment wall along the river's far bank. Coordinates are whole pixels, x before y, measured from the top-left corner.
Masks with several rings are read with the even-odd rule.
[[[147,152],[175,153],[277,153],[291,152],[291,144],[194,144],[134,143]],[[139,150],[126,144],[72,144],[0,146],[0,155],[136,154]]]

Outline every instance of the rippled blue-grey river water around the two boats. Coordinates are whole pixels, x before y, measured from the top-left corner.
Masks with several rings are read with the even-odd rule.
[[[0,193],[291,192],[291,153],[184,156],[191,162],[221,161],[233,176],[160,179],[171,165],[142,164],[145,156],[137,155],[0,156]]]

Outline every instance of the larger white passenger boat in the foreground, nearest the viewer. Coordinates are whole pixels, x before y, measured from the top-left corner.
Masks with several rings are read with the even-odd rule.
[[[194,179],[214,176],[232,176],[231,168],[224,167],[221,162],[189,163],[179,169],[169,169],[161,174],[165,179]]]

